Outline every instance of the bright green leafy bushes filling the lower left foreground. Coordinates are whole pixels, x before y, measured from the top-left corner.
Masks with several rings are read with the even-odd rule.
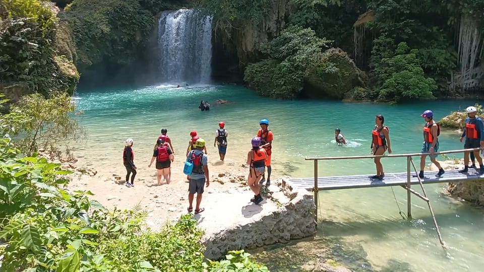
[[[0,139],[0,239],[7,241],[0,247],[2,271],[203,270],[203,233],[191,215],[153,232],[139,205],[108,211],[89,199],[89,191],[64,190],[71,172],[59,167],[25,157],[9,139]],[[222,260],[205,267],[267,271],[247,253],[227,258],[230,265]]]

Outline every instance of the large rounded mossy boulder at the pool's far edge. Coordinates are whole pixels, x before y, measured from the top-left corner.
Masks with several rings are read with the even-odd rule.
[[[356,86],[364,86],[361,71],[339,48],[326,50],[305,78],[304,96],[343,99]]]

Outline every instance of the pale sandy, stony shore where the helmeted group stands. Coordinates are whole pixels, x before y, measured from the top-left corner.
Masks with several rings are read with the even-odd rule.
[[[72,170],[75,173],[72,174],[72,182],[68,189],[89,190],[94,193],[91,197],[106,208],[131,209],[140,203],[141,207],[149,212],[148,225],[156,230],[166,221],[176,220],[180,215],[188,213],[188,181],[182,169],[185,154],[175,155],[177,158],[171,168],[172,181],[170,184],[162,181],[160,186],[157,185],[156,169],[148,168],[148,159],[136,160],[135,157],[138,173],[135,186],[131,188],[125,186],[126,170],[122,163],[112,162],[112,168],[106,168],[102,167],[106,165],[106,159],[81,157],[77,162],[70,163],[70,168],[74,168]],[[205,188],[201,204],[205,211],[195,216],[204,229],[216,227],[221,213],[223,220],[237,222],[239,219],[243,220],[260,213],[264,206],[266,210],[272,206],[265,200],[261,206],[252,207],[250,198],[253,193],[246,183],[249,168],[245,163],[242,157],[226,158],[222,162],[218,158],[218,153],[213,150],[210,153],[209,150],[211,182],[209,187]],[[64,167],[67,168],[68,165],[65,164]],[[81,174],[79,170],[87,170],[87,173]],[[271,177],[272,180],[276,178],[276,175]],[[224,213],[224,209],[230,211]]]

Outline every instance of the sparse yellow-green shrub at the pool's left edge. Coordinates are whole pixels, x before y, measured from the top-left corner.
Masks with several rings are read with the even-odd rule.
[[[83,138],[83,130],[71,118],[74,111],[75,104],[67,93],[53,93],[48,99],[40,94],[27,95],[11,107],[9,114],[0,116],[0,133],[13,137],[26,154],[33,154],[39,147],[56,152],[66,140]]]

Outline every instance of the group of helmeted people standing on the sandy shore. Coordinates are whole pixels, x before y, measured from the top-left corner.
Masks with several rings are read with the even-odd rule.
[[[203,102],[203,101],[202,101]],[[202,104],[201,104],[202,105]],[[225,159],[227,151],[227,137],[228,132],[225,129],[225,123],[219,122],[219,128],[215,131],[214,147],[218,145],[218,153],[220,160]],[[260,129],[257,136],[252,139],[252,149],[247,155],[247,165],[249,166],[248,184],[254,192],[254,197],[251,201],[258,204],[263,200],[261,196],[261,186],[266,181],[265,168],[267,167],[267,182],[266,186],[270,185],[271,177],[271,155],[272,155],[272,141],[274,135],[268,129],[269,120],[262,119],[259,122]],[[153,165],[156,161],[155,167],[157,169],[158,185],[161,185],[161,178],[163,177],[166,184],[171,180],[171,162],[174,160],[174,149],[171,139],[167,135],[166,128],[161,129],[161,135],[156,140],[156,145],[153,148],[153,156],[148,167]],[[210,175],[208,169],[208,155],[205,140],[198,136],[197,131],[190,132],[190,141],[186,152],[186,165],[191,168],[187,174],[189,180],[189,207],[188,212],[194,211],[193,200],[197,194],[195,214],[203,212],[205,209],[200,207],[204,187],[210,185]],[[134,187],[134,180],[137,174],[137,167],[134,164],[133,139],[126,140],[125,148],[123,150],[123,163],[126,167],[126,186]]]

